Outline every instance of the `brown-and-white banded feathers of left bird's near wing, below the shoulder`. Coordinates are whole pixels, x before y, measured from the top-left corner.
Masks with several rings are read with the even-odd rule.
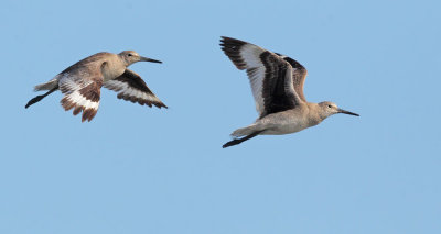
[[[61,100],[64,110],[74,109],[74,115],[83,111],[82,122],[94,119],[99,107],[103,77],[99,75],[84,76],[84,74],[80,77],[69,73],[58,76],[61,76],[60,90],[64,94]]]

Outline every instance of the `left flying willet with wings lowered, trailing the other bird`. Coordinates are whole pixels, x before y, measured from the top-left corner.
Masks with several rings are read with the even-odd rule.
[[[64,94],[61,100],[64,110],[74,109],[74,115],[83,111],[82,122],[90,121],[98,111],[101,86],[118,92],[119,99],[141,105],[166,108],[138,74],[127,69],[137,62],[162,63],[142,57],[133,51],[119,54],[98,53],[72,65],[52,80],[35,86],[35,91],[49,91],[31,99],[25,108],[60,89]]]

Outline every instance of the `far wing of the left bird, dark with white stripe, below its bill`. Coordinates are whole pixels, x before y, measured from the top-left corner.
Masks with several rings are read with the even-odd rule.
[[[153,104],[158,108],[166,108],[149,87],[147,87],[142,78],[129,69],[126,69],[121,76],[106,81],[104,87],[118,92],[119,99],[138,102],[141,105],[147,104],[152,107]]]

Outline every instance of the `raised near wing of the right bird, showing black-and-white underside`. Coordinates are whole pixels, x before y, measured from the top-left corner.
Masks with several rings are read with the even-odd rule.
[[[293,86],[293,68],[283,58],[230,37],[223,36],[220,46],[238,69],[247,70],[260,118],[293,109],[301,101]]]

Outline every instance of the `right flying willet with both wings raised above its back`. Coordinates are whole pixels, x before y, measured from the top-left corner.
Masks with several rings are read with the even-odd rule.
[[[223,145],[224,148],[257,135],[295,133],[318,125],[336,113],[359,116],[337,108],[333,102],[306,102],[303,94],[306,69],[299,62],[225,36],[220,40],[220,46],[238,69],[247,70],[259,113],[255,123],[234,131],[234,140]]]

